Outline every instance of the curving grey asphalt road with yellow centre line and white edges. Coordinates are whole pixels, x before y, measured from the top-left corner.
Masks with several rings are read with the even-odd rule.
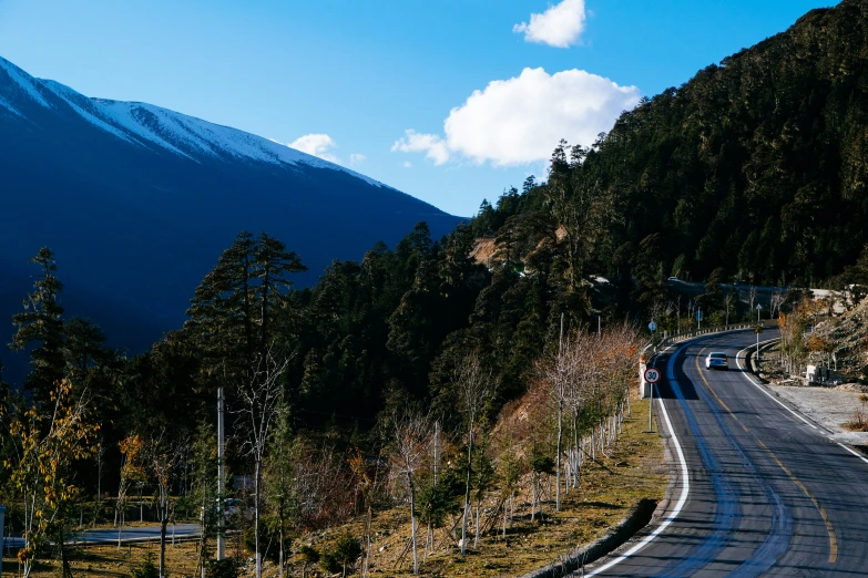
[[[584,576],[868,575],[868,462],[741,369],[736,353],[755,339],[709,336],[658,359],[680,481],[671,522],[656,536],[660,525],[649,527]],[[725,351],[729,370],[705,370],[709,351]],[[655,414],[670,437],[663,412]]]

